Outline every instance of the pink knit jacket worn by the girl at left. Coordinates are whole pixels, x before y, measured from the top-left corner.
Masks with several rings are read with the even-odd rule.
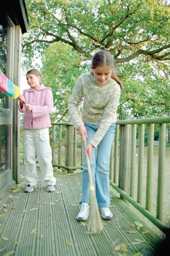
[[[45,87],[40,84],[37,90],[32,88],[26,89],[23,92],[26,104],[32,105],[32,111],[27,111],[25,105],[18,109],[21,113],[25,113],[23,120],[23,128],[31,129],[31,122],[33,129],[47,128],[51,126],[49,114],[53,111],[53,95],[50,87]]]

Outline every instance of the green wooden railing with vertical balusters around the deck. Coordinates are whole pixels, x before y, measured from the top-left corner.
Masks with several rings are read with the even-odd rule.
[[[130,202],[144,216],[153,222],[163,232],[167,227],[162,223],[163,218],[163,187],[164,187],[164,159],[166,124],[170,123],[170,117],[164,114],[159,117],[131,118],[123,116],[116,122],[115,139],[113,141],[110,161],[110,185],[120,193],[125,202]],[[153,192],[153,136],[154,124],[159,124],[159,157],[158,157],[158,187],[156,217],[152,211]],[[53,125],[53,166],[68,169],[82,169],[82,146],[81,164],[77,166],[77,131],[71,123],[52,123]],[[54,161],[55,126],[59,125],[58,163]],[[137,198],[135,199],[135,176],[136,176],[136,131],[139,130],[138,150],[138,180]],[[147,183],[145,207],[142,207],[143,191],[143,164],[144,164],[144,129],[147,125]],[[65,126],[65,164],[61,164],[62,126]]]

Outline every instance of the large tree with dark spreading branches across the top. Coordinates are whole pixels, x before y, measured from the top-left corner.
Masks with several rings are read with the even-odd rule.
[[[116,63],[139,55],[161,68],[170,60],[170,7],[162,0],[27,0],[29,31],[23,50],[69,44],[90,59],[109,50]]]

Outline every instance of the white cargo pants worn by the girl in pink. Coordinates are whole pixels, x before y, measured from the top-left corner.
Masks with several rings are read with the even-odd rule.
[[[48,128],[24,129],[23,138],[25,176],[28,184],[35,186],[39,179],[36,169],[37,153],[42,177],[47,185],[55,185]]]

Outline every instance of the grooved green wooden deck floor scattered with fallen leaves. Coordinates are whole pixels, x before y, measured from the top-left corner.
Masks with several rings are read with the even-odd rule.
[[[81,173],[56,177],[53,193],[46,192],[42,180],[32,193],[25,193],[23,185],[13,189],[0,212],[0,256],[120,256],[126,249],[127,256],[153,255],[161,239],[113,191],[113,219],[104,221],[101,234],[86,233],[88,222],[76,221]],[[138,230],[134,221],[143,226]],[[126,249],[117,250],[121,243]]]

